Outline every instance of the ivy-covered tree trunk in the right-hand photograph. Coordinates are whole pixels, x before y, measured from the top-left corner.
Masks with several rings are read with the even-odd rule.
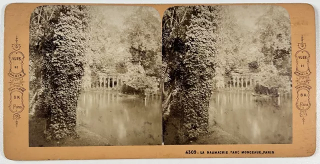
[[[181,112],[184,136],[197,138],[208,131],[208,109],[216,67],[218,6],[194,6],[186,30],[181,85],[174,110]],[[173,110],[173,109],[172,109]]]

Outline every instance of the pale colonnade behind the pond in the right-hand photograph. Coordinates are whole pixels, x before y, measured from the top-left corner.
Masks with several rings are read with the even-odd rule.
[[[256,84],[256,79],[253,77],[232,77],[232,80],[229,81],[218,81],[217,82],[217,88],[237,88],[237,89],[243,89],[248,88],[250,86],[254,86]]]

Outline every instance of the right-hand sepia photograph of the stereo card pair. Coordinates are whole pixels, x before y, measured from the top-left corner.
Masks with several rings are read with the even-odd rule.
[[[290,25],[277,5],[167,8],[163,143],[292,143]]]

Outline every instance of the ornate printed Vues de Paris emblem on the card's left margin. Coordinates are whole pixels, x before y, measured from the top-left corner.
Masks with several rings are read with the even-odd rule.
[[[23,59],[24,55],[20,51],[21,45],[18,44],[18,37],[15,38],[15,43],[12,44],[13,51],[9,54],[10,69],[8,75],[10,76],[10,102],[9,110],[13,113],[13,120],[15,120],[16,127],[18,126],[18,119],[20,119],[20,113],[24,109],[23,104],[23,77],[25,73],[23,71]]]

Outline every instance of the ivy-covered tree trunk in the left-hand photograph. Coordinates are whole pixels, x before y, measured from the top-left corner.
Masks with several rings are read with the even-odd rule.
[[[76,107],[83,76],[86,6],[62,5],[54,29],[55,49],[49,70],[47,139],[76,136]]]

